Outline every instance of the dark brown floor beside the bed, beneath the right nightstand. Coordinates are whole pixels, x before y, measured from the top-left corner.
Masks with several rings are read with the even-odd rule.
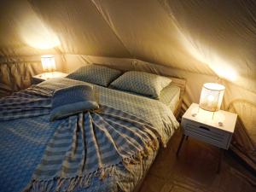
[[[230,153],[225,153],[217,174],[219,149],[193,138],[183,143],[178,158],[176,150],[181,133],[161,149],[154,160],[141,192],[253,192],[256,175],[248,172]]]

